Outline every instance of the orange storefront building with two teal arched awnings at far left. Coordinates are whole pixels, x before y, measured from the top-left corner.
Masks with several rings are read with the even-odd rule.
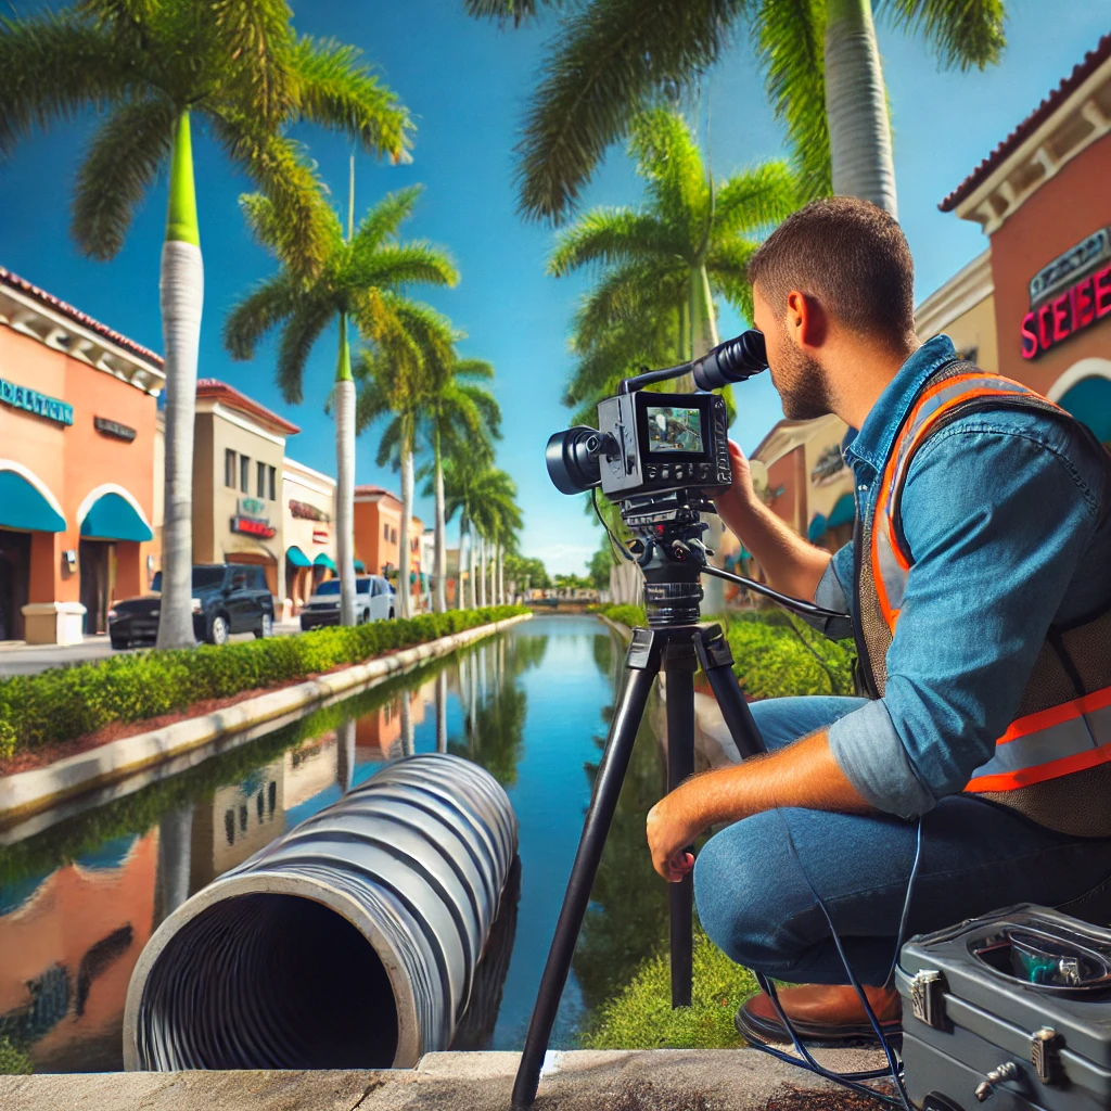
[[[76,643],[154,554],[162,360],[0,267],[0,641]]]

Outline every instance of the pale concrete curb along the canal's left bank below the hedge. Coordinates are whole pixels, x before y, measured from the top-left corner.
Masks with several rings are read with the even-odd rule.
[[[531,613],[522,613],[504,621],[467,629],[310,679],[296,687],[269,691],[199,718],[189,718],[162,729],[110,741],[88,752],[58,760],[47,768],[6,775],[0,778],[0,822],[9,825],[77,794],[133,775],[230,733],[288,717],[307,705],[334,699],[338,694],[351,693],[358,688],[376,687],[426,660],[447,655],[474,640],[528,621],[531,617]]]

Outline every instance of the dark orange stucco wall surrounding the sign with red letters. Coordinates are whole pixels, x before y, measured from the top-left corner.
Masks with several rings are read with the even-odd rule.
[[[991,237],[999,369],[1047,392],[1080,359],[1111,358],[1111,314],[1022,358],[1022,319],[1030,311],[1030,279],[1059,254],[1111,223],[1111,134],[1097,140],[1032,193]],[[1105,263],[1104,263],[1105,266]]]

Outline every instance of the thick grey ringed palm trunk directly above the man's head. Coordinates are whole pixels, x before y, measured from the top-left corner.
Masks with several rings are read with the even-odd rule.
[[[898,219],[891,123],[871,0],[825,0],[825,116],[833,192]]]

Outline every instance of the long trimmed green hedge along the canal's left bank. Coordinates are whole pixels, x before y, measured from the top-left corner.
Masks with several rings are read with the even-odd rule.
[[[0,757],[144,721],[206,699],[277,687],[528,610],[488,607],[317,629],[219,648],[149,651],[0,680]]]

